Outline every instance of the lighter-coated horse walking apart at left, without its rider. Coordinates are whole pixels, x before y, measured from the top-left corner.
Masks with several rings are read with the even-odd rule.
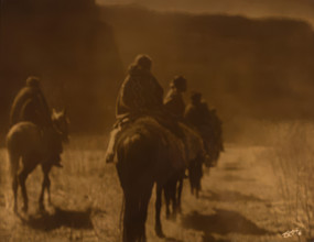
[[[29,198],[25,180],[37,165],[41,165],[44,174],[42,190],[39,199],[40,210],[44,210],[44,193],[47,189],[48,202],[51,204],[48,173],[53,163],[61,160],[63,152],[62,142],[68,141],[68,119],[66,111],[52,113],[53,128],[45,130],[29,121],[22,121],[14,124],[7,134],[7,150],[10,161],[12,190],[14,196],[14,212],[18,212],[18,188],[21,186],[24,212],[29,208]],[[20,160],[22,169],[20,169]]]

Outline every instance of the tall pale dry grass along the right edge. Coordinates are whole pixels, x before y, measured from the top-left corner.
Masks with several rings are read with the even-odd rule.
[[[273,148],[269,153],[275,185],[282,199],[285,226],[300,228],[313,237],[314,217],[314,125],[285,123],[273,129]]]

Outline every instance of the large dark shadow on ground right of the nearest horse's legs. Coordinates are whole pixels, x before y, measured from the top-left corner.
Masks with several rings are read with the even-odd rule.
[[[228,233],[264,235],[269,231],[258,228],[253,222],[235,211],[215,209],[213,215],[201,215],[193,211],[182,218],[182,226],[204,232],[204,242],[217,241],[213,233],[226,235]]]

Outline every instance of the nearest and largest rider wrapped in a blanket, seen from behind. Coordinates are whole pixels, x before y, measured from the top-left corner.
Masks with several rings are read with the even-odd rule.
[[[177,143],[177,148],[174,150],[180,150],[181,153],[185,153],[183,140],[187,140],[185,139],[187,128],[182,128],[176,119],[169,116],[170,110],[166,111],[166,108],[170,107],[170,99],[165,99],[164,106],[163,88],[151,74],[151,66],[152,61],[149,56],[139,55],[129,68],[128,76],[118,95],[116,113],[118,121],[110,134],[106,154],[107,163],[113,162],[116,143],[122,135],[123,130],[131,129],[131,125],[128,124],[133,124],[134,121],[139,119],[150,120],[150,122],[147,123],[154,123],[153,127],[162,128],[161,132],[164,133],[163,140],[166,143],[175,140],[174,143]],[[182,110],[184,112],[184,108]],[[144,122],[142,122],[142,124],[144,124]]]

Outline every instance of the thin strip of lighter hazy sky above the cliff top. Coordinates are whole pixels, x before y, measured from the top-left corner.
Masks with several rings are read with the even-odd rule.
[[[284,16],[307,20],[314,26],[314,0],[97,0],[100,4],[140,6],[161,11],[228,13],[251,18]]]

